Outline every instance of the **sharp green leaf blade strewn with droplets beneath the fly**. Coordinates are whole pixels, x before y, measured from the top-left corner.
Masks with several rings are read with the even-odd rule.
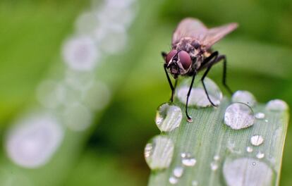
[[[178,100],[174,104],[184,113],[185,104]],[[174,154],[168,168],[152,170],[149,185],[279,185],[288,109],[273,111],[257,104],[253,112],[264,113],[264,118],[255,118],[248,128],[233,130],[224,124],[229,105],[230,99],[224,98],[218,108],[189,107],[193,123],[188,123],[183,114],[178,128],[159,135],[173,142]],[[262,144],[251,143],[255,135],[263,138]],[[253,140],[259,142],[256,137]],[[169,157],[165,153],[169,151],[159,151],[155,158]],[[195,159],[193,166],[185,166],[185,156]]]

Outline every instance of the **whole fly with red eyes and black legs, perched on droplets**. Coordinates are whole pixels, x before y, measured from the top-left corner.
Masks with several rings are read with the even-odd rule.
[[[171,87],[171,102],[174,100],[174,92],[179,75],[192,76],[190,88],[188,89],[187,100],[185,103],[185,115],[188,121],[192,118],[188,115],[188,99],[192,91],[195,75],[201,70],[205,70],[201,81],[205,89],[207,99],[212,106],[216,106],[209,97],[205,87],[204,79],[209,70],[215,63],[223,61],[223,78],[224,87],[232,94],[231,89],[226,84],[226,56],[220,55],[218,51],[212,51],[213,44],[222,39],[238,27],[237,23],[229,23],[219,27],[207,28],[200,20],[195,18],[185,18],[181,20],[174,31],[171,42],[171,51],[167,54],[162,52],[164,58],[164,70],[167,80]],[[172,85],[169,73],[174,77],[175,84]]]

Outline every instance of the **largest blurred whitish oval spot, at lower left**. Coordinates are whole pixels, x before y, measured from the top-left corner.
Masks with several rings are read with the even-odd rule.
[[[49,161],[62,140],[63,129],[56,119],[37,114],[18,121],[8,131],[6,151],[18,166],[37,168]]]

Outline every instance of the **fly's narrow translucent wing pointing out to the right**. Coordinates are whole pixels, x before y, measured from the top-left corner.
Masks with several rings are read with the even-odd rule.
[[[214,27],[209,29],[204,37],[202,37],[200,43],[202,44],[202,49],[209,49],[213,44],[222,39],[225,35],[228,35],[233,30],[238,27],[237,23],[229,23],[220,27]]]

